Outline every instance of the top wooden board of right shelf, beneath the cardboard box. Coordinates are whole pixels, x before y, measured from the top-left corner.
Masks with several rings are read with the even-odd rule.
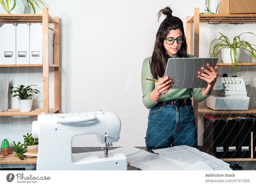
[[[199,14],[199,23],[255,23],[256,14]],[[187,23],[193,23],[194,16],[191,16]]]

